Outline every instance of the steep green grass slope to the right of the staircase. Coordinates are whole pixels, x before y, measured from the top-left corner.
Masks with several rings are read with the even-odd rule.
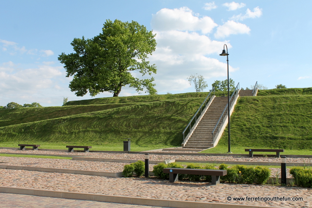
[[[311,150],[311,109],[312,95],[241,97],[231,116],[231,146]],[[227,128],[218,145],[227,146]]]

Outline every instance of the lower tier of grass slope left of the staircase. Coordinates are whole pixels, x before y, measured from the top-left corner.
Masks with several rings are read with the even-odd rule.
[[[206,94],[207,95],[207,94]],[[140,97],[140,96],[138,96]],[[0,143],[122,143],[141,146],[182,143],[182,130],[202,98],[164,100],[0,127]]]

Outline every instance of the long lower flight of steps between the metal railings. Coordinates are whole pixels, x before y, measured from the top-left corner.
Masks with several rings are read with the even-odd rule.
[[[211,133],[226,105],[227,97],[215,97],[213,99],[184,148],[207,149],[212,147]]]

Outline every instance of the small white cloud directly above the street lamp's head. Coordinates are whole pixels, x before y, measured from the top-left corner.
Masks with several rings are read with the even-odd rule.
[[[214,36],[216,38],[224,38],[232,34],[249,34],[249,32],[250,28],[247,25],[229,20],[223,25],[217,27]]]

